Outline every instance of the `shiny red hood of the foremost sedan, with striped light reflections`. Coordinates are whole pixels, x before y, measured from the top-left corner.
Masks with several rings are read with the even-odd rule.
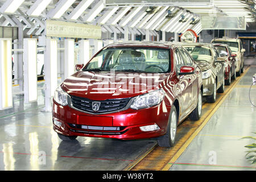
[[[170,73],[84,72],[68,77],[61,88],[68,94],[90,100],[129,98],[162,88]]]

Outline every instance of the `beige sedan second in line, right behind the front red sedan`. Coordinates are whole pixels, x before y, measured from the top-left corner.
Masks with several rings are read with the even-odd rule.
[[[224,59],[218,57],[212,44],[183,43],[183,47],[187,49],[201,68],[204,86],[203,96],[207,98],[207,102],[215,102],[217,92],[224,93],[225,89]]]

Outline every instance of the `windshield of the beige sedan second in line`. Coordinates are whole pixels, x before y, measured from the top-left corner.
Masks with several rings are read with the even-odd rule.
[[[195,61],[208,61],[212,60],[210,48],[205,46],[184,46],[185,49],[191,54]]]

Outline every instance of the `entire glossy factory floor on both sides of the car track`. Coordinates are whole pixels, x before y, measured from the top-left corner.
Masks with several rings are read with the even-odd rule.
[[[222,98],[203,129],[175,162],[164,163],[167,169],[255,170],[245,159],[244,147],[255,142],[241,138],[255,137],[252,132],[256,132],[256,107],[248,96],[256,60],[246,59],[245,64],[250,67]],[[52,130],[51,113],[44,112],[44,81],[38,82],[38,88],[38,102],[24,104],[18,86],[13,86],[14,108],[0,111],[0,170],[123,170],[156,150],[156,141],[151,139],[78,137],[73,142],[61,141]],[[255,96],[253,86],[254,105]]]

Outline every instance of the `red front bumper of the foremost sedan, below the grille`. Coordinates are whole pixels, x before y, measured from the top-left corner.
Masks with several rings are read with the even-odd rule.
[[[117,113],[94,115],[83,113],[69,106],[60,106],[53,100],[52,117],[61,122],[60,127],[53,123],[53,130],[67,136],[117,139],[155,138],[166,133],[170,109],[170,106],[162,102],[146,109],[127,109]],[[154,124],[160,129],[146,132],[139,129],[140,126]],[[113,128],[117,130],[113,131]]]

